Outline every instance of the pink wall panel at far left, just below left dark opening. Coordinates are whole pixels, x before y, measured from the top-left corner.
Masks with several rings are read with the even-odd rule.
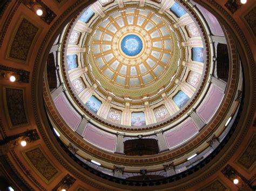
[[[68,124],[73,130],[76,130],[82,118],[77,111],[73,109],[65,95],[63,93],[60,94],[59,97],[55,99],[54,103],[66,124]]]

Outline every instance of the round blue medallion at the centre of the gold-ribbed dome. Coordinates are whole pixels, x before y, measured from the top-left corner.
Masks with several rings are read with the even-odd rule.
[[[142,48],[142,40],[135,34],[125,36],[121,42],[121,49],[127,56],[138,55]]]

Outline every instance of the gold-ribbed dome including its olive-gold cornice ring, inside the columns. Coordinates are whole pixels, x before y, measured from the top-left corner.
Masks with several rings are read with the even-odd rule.
[[[169,20],[131,5],[108,13],[85,43],[92,81],[105,92],[130,98],[156,94],[170,84],[178,70],[180,37]]]

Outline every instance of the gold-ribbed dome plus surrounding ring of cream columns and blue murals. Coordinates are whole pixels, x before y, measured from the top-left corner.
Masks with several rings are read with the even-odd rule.
[[[72,87],[85,110],[134,127],[164,121],[183,110],[201,83],[206,53],[198,25],[183,6],[173,2],[169,15],[150,6],[129,5],[106,13],[95,7],[78,17],[66,56]],[[173,23],[184,18],[181,32]],[[83,47],[85,52],[80,51]],[[86,68],[84,77],[79,68]],[[151,105],[146,112],[145,101]],[[138,107],[126,111],[126,103]]]

